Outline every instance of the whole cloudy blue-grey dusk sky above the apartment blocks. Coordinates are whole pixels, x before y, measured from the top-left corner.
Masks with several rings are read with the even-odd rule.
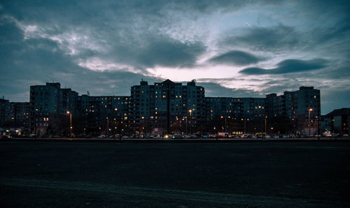
[[[130,95],[141,79],[206,96],[321,90],[321,112],[350,107],[350,1],[0,1],[0,96],[60,82]]]

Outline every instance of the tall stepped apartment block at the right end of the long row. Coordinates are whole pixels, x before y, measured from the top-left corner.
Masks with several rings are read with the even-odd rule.
[[[272,128],[281,132],[319,134],[321,116],[320,90],[300,87],[297,91],[285,91],[283,95],[269,94],[265,110]]]

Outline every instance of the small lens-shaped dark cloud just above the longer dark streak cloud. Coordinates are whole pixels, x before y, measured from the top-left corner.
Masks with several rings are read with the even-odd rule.
[[[209,61],[215,64],[233,64],[244,66],[248,64],[256,64],[261,60],[263,60],[261,57],[256,57],[253,54],[239,50],[232,50],[230,52],[226,52],[225,54],[213,57]]]

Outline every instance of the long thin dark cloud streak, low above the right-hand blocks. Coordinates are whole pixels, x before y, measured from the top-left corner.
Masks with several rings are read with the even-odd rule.
[[[325,59],[312,59],[309,61],[303,61],[298,59],[287,59],[279,62],[276,68],[263,69],[263,68],[244,68],[239,73],[246,75],[264,75],[264,74],[285,74],[285,73],[299,73],[309,70],[318,70],[325,68],[327,65]]]

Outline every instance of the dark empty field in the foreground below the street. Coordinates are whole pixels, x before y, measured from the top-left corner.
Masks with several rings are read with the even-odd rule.
[[[0,207],[349,207],[350,142],[0,142]]]

